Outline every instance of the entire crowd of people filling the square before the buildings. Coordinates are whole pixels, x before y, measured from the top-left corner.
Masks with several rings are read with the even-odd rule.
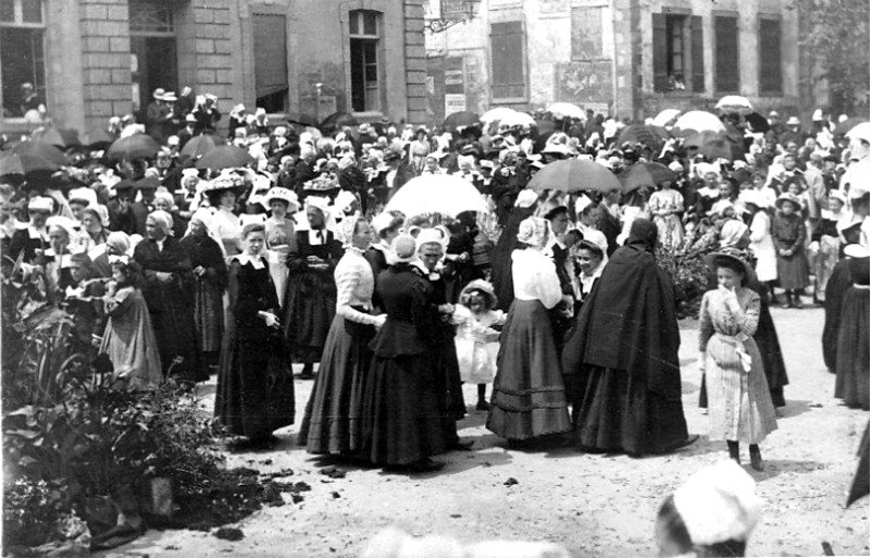
[[[714,157],[670,123],[531,116],[319,129],[237,106],[225,131],[213,96],[157,90],[139,122],[108,131],[151,136],[153,154],[66,146],[60,170],[0,176],[3,273],[73,313],[75,349],[108,355],[134,385],[216,374],[229,434],[271,446],[302,404],[308,451],[385,468],[437,470],[433,456],[471,446],[457,434],[463,383],[515,447],[690,444],[662,253],[707,263],[699,405],[732,459],[748,444],[763,468],[785,405],[772,305],[825,306],[835,396],[868,410],[868,124],[842,135],[822,111],[808,131],[774,111],[764,125],[725,112],[717,139],[731,149]],[[626,134],[639,127],[656,134]],[[203,137],[247,162],[203,168],[186,149]],[[609,188],[536,179],[570,160],[620,179],[664,174]],[[486,211],[390,210],[430,175],[466,181]],[[308,401],[295,400],[294,363],[313,379]]]

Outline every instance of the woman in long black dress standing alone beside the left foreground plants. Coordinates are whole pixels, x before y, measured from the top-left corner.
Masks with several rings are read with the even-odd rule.
[[[270,447],[294,423],[294,375],[278,320],[278,298],[263,257],[265,227],[242,228],[242,253],[231,258],[229,312],[217,374],[215,417],[231,434]]]

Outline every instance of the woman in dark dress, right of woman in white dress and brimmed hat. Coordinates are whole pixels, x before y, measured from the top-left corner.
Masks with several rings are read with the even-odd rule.
[[[329,200],[306,198],[306,216],[309,227],[297,231],[296,251],[287,255],[284,330],[294,360],[303,363],[301,377],[312,379],[336,312],[333,271],[343,253],[341,244],[327,226]]]

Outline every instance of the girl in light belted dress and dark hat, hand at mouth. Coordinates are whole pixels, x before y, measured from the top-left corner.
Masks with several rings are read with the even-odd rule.
[[[723,248],[707,258],[718,288],[701,299],[699,365],[707,374],[710,439],[725,439],[741,462],[738,444],[750,445],[750,464],[762,470],[759,443],[777,427],[774,406],[752,338],[759,324],[759,295],[745,285],[754,272],[745,252]]]

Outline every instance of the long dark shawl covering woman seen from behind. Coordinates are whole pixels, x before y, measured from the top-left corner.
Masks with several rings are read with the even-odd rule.
[[[673,287],[654,259],[656,238],[651,221],[633,222],[626,246],[617,249],[584,301],[562,354],[564,374],[577,374],[584,364],[625,370],[646,376],[649,390],[681,398]]]

